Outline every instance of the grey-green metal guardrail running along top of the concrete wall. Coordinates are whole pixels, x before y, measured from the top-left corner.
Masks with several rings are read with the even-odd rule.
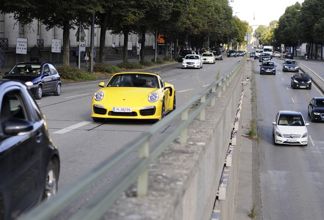
[[[189,124],[200,115],[200,120],[205,120],[205,109],[208,103],[211,106],[215,105],[215,98],[221,97],[222,91],[226,91],[226,87],[232,81],[243,62],[242,59],[234,68],[232,68],[225,76],[215,81],[201,94],[192,97],[184,105],[170,113],[163,120],[155,123],[148,131],[138,137],[137,140],[127,144],[115,154],[100,162],[95,168],[74,180],[72,183],[58,191],[58,194],[51,200],[46,201],[22,215],[22,220],[44,220],[50,219],[55,214],[59,213],[77,196],[81,195],[85,189],[110,172],[113,168],[123,161],[132,152],[139,150],[139,158],[134,161],[131,166],[128,166],[115,180],[100,191],[90,202],[77,211],[70,219],[99,219],[107,209],[114,204],[134,181],[137,179],[137,195],[145,196],[148,190],[148,170],[154,159],[156,159],[166,147],[170,145],[179,135],[180,143],[184,144],[187,141],[187,127]],[[198,103],[198,104],[197,104]],[[193,106],[195,107],[193,108]],[[154,150],[149,152],[150,138],[164,129],[167,125],[175,121],[181,116],[181,122],[174,127],[173,131],[166,139],[161,140],[154,145]]]

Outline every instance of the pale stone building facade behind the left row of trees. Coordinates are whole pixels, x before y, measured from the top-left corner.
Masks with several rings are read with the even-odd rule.
[[[70,50],[72,50],[78,45],[76,38],[76,33],[78,27],[70,30]],[[84,29],[85,47],[90,47],[91,42],[91,27]],[[27,52],[26,54],[16,53],[17,38],[27,39]],[[100,28],[95,27],[94,30],[94,47],[99,48],[99,38],[100,38]],[[6,56],[8,58],[7,62],[4,62],[4,66],[12,66],[18,62],[29,61],[30,48],[37,44],[42,52],[43,59],[49,62],[62,62],[62,51],[61,52],[51,52],[52,40],[61,40],[63,43],[63,30],[60,28],[52,28],[49,31],[46,30],[46,26],[41,22],[34,20],[31,24],[20,25],[17,20],[13,19],[13,14],[0,14],[0,44],[5,50]],[[120,49],[123,48],[124,36],[123,35],[113,35],[110,31],[106,32],[105,37],[105,47],[106,52],[113,52],[111,50],[111,45],[116,43],[116,46]],[[130,34],[128,35],[128,42],[132,42],[132,47],[136,48],[139,42],[138,35]],[[154,35],[147,35],[145,46],[153,46]],[[61,45],[61,50],[63,45]],[[73,59],[70,56],[70,59]]]

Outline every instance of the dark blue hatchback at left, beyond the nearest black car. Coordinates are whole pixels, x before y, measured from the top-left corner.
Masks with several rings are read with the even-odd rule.
[[[23,81],[35,99],[41,99],[43,93],[54,93],[56,96],[61,94],[61,77],[50,63],[18,63],[5,73],[4,78]]]

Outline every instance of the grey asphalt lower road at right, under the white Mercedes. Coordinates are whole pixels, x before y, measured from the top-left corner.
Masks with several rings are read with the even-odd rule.
[[[314,84],[311,90],[292,89],[294,73],[282,71],[283,60],[273,61],[276,75],[260,75],[254,61],[262,219],[323,219],[324,124],[312,123],[307,114],[310,100],[323,93]],[[298,61],[323,77],[322,62]],[[300,111],[310,123],[307,147],[273,144],[272,122],[280,110]]]

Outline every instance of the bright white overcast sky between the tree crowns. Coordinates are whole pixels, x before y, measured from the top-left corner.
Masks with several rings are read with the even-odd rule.
[[[240,20],[247,21],[252,25],[269,25],[273,20],[279,20],[287,7],[296,2],[302,4],[304,0],[229,0],[233,8],[233,15]],[[254,19],[255,17],[255,19]],[[255,30],[258,26],[253,26]]]

